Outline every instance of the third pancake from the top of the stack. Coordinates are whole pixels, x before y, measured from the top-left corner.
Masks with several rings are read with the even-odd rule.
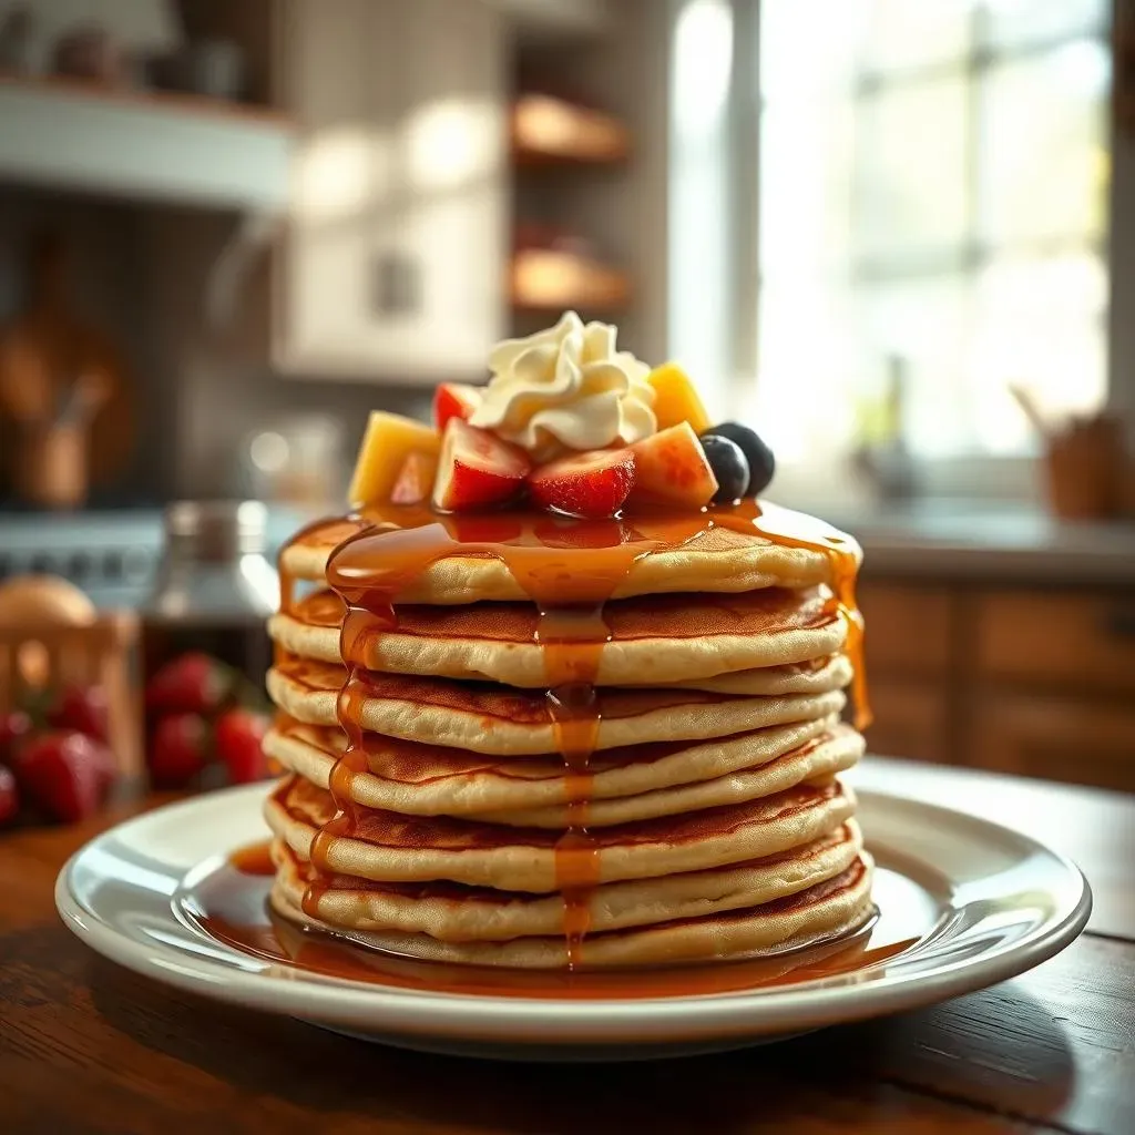
[[[311,725],[338,722],[343,667],[295,658],[268,672],[268,692]],[[362,728],[386,737],[499,756],[557,753],[541,691],[443,678],[368,674],[355,689]],[[706,740],[839,713],[841,692],[747,697],[683,689],[598,691],[596,750],[655,741]]]

